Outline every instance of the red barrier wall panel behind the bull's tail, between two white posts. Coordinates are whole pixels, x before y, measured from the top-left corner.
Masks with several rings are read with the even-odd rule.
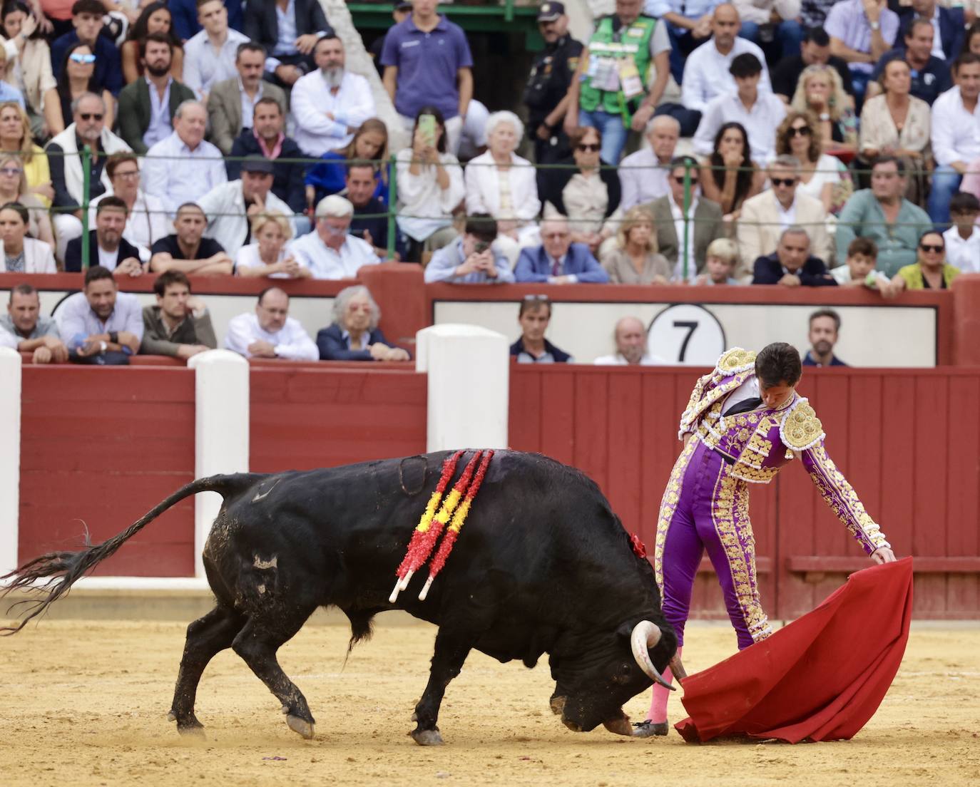
[[[25,366],[19,558],[128,527],[194,477],[194,372]],[[185,500],[99,566],[104,575],[194,573]]]

